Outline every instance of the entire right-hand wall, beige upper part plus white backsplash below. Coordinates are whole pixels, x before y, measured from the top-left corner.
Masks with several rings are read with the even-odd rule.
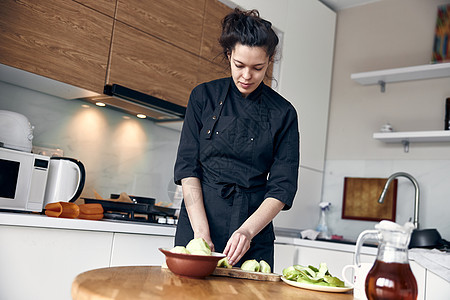
[[[384,0],[338,12],[323,201],[332,202],[334,232],[357,237],[373,222],[341,219],[343,180],[413,175],[421,188],[419,222],[450,239],[450,143],[385,144],[372,135],[389,122],[396,131],[443,130],[450,78],[361,86],[351,73],[428,64],[437,6],[448,0]],[[397,221],[413,216],[414,189],[399,179]]]

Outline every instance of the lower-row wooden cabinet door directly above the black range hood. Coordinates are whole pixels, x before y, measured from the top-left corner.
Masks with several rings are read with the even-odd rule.
[[[197,83],[199,57],[117,22],[108,83],[186,106]]]

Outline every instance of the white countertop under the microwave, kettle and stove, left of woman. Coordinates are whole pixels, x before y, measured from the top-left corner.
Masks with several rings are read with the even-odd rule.
[[[0,225],[175,236],[175,225],[108,220],[53,218],[28,213],[0,213]]]

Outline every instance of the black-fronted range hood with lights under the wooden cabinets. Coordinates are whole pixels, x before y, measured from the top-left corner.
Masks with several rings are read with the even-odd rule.
[[[104,95],[86,97],[82,100],[94,104],[102,102],[109,108],[132,115],[142,114],[155,122],[182,121],[186,114],[184,106],[118,84],[105,85],[103,92]]]

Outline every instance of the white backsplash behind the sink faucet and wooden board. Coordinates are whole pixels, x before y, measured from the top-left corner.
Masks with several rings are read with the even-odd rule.
[[[341,218],[344,178],[387,178],[395,172],[409,173],[419,184],[419,228],[437,228],[444,239],[450,240],[450,160],[327,160],[322,201],[331,203],[328,222],[333,234],[356,239],[377,223]],[[409,179],[398,178],[397,223],[413,218],[414,192]]]

